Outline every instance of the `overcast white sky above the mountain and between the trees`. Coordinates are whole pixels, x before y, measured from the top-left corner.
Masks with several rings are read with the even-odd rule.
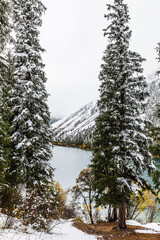
[[[112,0],[42,0],[47,7],[41,44],[52,116],[64,117],[98,98],[98,75],[107,38],[104,18]],[[132,29],[131,49],[146,58],[145,76],[158,68],[160,0],[126,0]]]

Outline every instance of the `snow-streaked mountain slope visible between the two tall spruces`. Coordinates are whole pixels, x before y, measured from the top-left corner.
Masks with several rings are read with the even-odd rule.
[[[88,144],[91,142],[98,107],[91,102],[75,113],[52,124],[54,141],[69,144]]]

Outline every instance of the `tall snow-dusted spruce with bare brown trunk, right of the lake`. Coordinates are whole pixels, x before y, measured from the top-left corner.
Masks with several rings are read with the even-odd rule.
[[[126,203],[137,189],[150,188],[142,174],[154,169],[147,147],[145,122],[140,113],[144,108],[147,84],[142,75],[141,56],[129,50],[128,6],[123,0],[107,5],[110,20],[104,30],[108,45],[104,52],[99,79],[99,116],[94,133],[94,187],[97,204],[113,204],[119,208],[120,228],[126,228]]]

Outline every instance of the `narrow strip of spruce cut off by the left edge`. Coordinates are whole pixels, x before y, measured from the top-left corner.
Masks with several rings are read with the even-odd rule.
[[[7,187],[6,169],[9,163],[9,133],[10,126],[6,113],[7,105],[4,102],[5,78],[8,64],[4,51],[10,39],[9,3],[7,0],[0,1],[0,200],[2,191]]]

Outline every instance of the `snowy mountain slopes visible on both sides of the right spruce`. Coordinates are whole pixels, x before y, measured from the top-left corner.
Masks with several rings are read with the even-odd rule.
[[[147,99],[145,118],[149,119],[154,125],[159,125],[154,112],[156,104],[160,102],[160,79],[152,81],[148,88],[150,96]],[[54,142],[56,144],[65,143],[69,146],[85,144],[86,147],[90,147],[97,116],[97,104],[91,102],[75,113],[53,123]]]

